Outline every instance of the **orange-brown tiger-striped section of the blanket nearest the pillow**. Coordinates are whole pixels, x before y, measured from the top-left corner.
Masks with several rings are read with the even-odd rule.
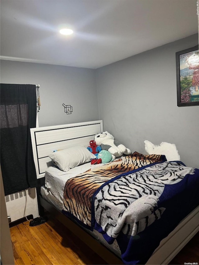
[[[94,193],[114,177],[155,162],[164,161],[165,156],[142,155],[137,152],[117,159],[99,168],[86,171],[66,182],[63,197],[63,211],[76,217],[81,225],[91,228],[91,206]]]

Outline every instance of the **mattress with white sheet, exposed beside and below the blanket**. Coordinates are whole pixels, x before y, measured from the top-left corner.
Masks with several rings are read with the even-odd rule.
[[[91,165],[90,162],[81,166],[70,169],[67,172],[59,170],[57,167],[49,167],[45,172],[45,186],[41,187],[42,197],[51,203],[60,212],[62,211],[63,192],[65,183],[70,178],[85,172],[91,168],[97,168],[99,165]],[[121,251],[118,247],[117,241],[114,240],[113,244],[108,244],[102,234],[95,229],[90,231],[83,228],[87,233],[95,237],[99,242],[105,245],[108,249],[113,251],[114,254],[120,257]]]

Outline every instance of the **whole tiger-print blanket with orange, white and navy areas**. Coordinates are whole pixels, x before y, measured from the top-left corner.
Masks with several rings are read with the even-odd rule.
[[[198,193],[198,169],[135,152],[68,180],[62,212],[109,244],[116,239],[123,263],[145,264],[199,205]]]

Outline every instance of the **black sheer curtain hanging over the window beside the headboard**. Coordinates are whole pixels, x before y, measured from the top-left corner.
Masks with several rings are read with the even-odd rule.
[[[36,127],[36,86],[1,84],[1,169],[5,195],[37,186],[30,128]]]

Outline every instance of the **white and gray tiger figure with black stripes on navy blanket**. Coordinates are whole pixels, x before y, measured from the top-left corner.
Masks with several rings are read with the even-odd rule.
[[[164,214],[157,202],[165,184],[176,184],[193,173],[193,168],[178,162],[163,162],[121,176],[96,194],[95,220],[111,238],[120,231],[134,236]]]

